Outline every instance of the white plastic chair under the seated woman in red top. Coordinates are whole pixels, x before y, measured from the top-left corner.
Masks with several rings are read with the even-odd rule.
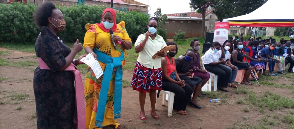
[[[158,93],[158,90],[156,90],[156,93]],[[169,96],[169,104],[168,104],[168,110],[167,110],[167,116],[171,117],[172,116],[172,109],[174,107],[174,95],[175,93],[171,92],[171,91],[165,91],[165,90],[161,90],[160,93],[162,93],[162,106],[165,106],[165,99],[166,99],[166,95]],[[157,95],[159,97],[159,95]],[[158,102],[158,97],[156,98],[156,103],[155,103],[155,110],[157,107],[157,102]]]

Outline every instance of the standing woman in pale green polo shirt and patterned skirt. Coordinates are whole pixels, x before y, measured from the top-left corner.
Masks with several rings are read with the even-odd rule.
[[[165,57],[166,53],[161,53],[163,47],[166,46],[164,39],[159,36],[157,31],[158,20],[156,17],[151,17],[148,22],[148,31],[138,36],[135,42],[135,51],[140,53],[137,63],[134,68],[134,75],[131,83],[133,90],[139,91],[140,102],[140,119],[146,120],[144,105],[146,92],[149,92],[151,110],[150,113],[154,119],[158,119],[155,112],[156,90],[161,90],[162,72],[161,58]],[[152,59],[152,56],[157,54],[159,58]]]

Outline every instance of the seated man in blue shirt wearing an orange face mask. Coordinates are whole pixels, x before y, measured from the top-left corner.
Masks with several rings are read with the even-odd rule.
[[[274,73],[275,63],[280,63],[280,60],[274,59],[273,57],[273,50],[275,49],[276,44],[272,43],[269,47],[265,47],[261,50],[261,57],[264,59],[267,59],[269,62],[269,74],[272,76],[277,76],[277,73]],[[265,64],[265,67],[267,67],[267,64]],[[266,69],[264,69],[266,70]]]

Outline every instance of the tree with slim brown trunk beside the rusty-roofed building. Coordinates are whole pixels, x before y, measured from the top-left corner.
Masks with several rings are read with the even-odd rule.
[[[201,37],[204,37],[204,31],[205,31],[205,13],[206,9],[209,6],[213,6],[213,2],[216,2],[218,0],[191,0],[190,5],[193,9],[199,11],[202,14],[202,26],[201,26]]]

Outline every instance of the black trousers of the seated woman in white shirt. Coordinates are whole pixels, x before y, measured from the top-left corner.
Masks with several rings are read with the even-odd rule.
[[[228,87],[228,83],[232,76],[232,68],[223,64],[204,64],[204,66],[207,71],[214,73],[218,76],[218,87]]]

